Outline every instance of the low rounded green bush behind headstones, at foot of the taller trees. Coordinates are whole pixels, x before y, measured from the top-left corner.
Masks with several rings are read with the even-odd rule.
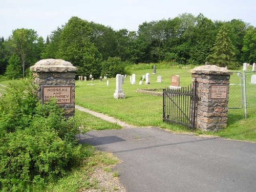
[[[108,60],[102,62],[101,75],[107,74],[108,77],[116,77],[117,74],[125,73],[126,63],[121,61],[120,57],[109,57]]]

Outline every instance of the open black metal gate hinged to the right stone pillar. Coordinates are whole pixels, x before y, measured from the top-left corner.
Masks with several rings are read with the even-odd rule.
[[[180,89],[163,89],[163,121],[195,130],[197,101],[197,81]]]

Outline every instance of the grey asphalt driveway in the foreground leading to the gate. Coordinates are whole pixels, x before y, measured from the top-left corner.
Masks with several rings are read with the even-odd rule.
[[[256,143],[156,127],[91,131],[78,138],[122,160],[115,169],[130,192],[256,191]]]

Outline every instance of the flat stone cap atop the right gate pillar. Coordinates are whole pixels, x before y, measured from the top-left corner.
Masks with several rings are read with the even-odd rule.
[[[194,74],[211,74],[211,75],[231,75],[233,72],[227,70],[226,68],[218,67],[215,65],[206,65],[195,67],[190,70],[190,73]]]

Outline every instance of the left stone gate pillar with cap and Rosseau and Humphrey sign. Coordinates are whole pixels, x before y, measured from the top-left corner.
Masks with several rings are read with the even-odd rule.
[[[43,59],[30,67],[34,83],[38,84],[37,98],[42,103],[55,98],[65,116],[75,114],[75,71],[70,62],[61,59]]]

